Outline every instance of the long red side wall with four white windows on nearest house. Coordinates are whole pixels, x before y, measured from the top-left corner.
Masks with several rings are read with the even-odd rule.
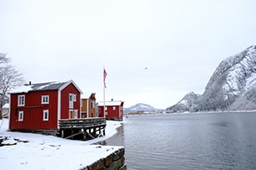
[[[18,106],[18,95],[25,95],[25,106]],[[41,96],[49,95],[49,104],[41,104]],[[14,129],[56,129],[58,90],[31,91],[11,94],[10,125]],[[44,110],[49,110],[49,121],[43,121]],[[24,111],[24,120],[18,121],[18,111]]]

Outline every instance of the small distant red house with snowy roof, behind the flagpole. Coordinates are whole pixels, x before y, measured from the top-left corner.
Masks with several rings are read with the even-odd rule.
[[[104,102],[98,103],[99,117],[104,117]],[[123,121],[123,101],[111,100],[105,101],[105,117],[109,120]]]

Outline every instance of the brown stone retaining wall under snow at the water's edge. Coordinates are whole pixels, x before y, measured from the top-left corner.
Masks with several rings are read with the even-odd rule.
[[[82,168],[81,170],[127,170],[124,159],[124,148],[113,152],[105,158]]]

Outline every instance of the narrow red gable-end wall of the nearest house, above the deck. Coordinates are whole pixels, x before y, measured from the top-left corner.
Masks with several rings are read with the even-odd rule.
[[[74,102],[74,107],[70,108],[70,101],[69,96],[70,94],[76,94],[76,101]],[[61,90],[61,102],[60,102],[60,119],[69,119],[69,111],[70,110],[77,110],[77,118],[81,117],[80,110],[81,110],[81,96],[79,90],[76,89],[75,85],[70,84],[65,87],[64,90]]]

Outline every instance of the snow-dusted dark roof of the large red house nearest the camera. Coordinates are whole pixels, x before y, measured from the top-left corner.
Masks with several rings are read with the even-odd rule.
[[[18,87],[15,90],[12,90],[10,93],[28,93],[29,91],[38,91],[38,90],[62,90],[65,86],[73,84],[76,86],[76,89],[81,92],[81,90],[77,87],[77,85],[73,82],[73,80],[65,81],[65,82],[46,82],[46,83],[36,83],[31,85],[23,85]],[[82,93],[82,92],[81,92]]]

